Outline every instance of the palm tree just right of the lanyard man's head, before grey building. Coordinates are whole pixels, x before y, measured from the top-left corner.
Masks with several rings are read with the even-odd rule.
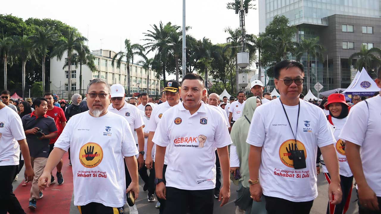
[[[323,46],[319,44],[319,37],[302,39],[298,44],[296,59],[300,61],[304,53],[307,54],[307,91],[310,90],[310,57],[315,57],[320,61],[324,61]]]

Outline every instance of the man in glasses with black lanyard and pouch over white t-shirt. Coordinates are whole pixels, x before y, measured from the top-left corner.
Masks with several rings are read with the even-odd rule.
[[[308,214],[317,197],[316,156],[320,147],[331,175],[328,197],[341,202],[335,138],[319,107],[299,99],[304,70],[300,62],[274,66],[280,97],[256,108],[248,131],[251,197],[266,199],[268,214]],[[329,163],[329,164],[328,164]]]

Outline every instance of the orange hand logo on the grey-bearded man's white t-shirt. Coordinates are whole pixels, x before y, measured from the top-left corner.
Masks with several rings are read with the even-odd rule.
[[[79,151],[79,161],[86,168],[98,166],[103,159],[103,150],[96,143],[87,143]]]

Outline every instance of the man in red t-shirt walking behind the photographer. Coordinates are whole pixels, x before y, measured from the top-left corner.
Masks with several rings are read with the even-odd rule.
[[[52,93],[44,94],[44,98],[48,101],[48,111],[46,112],[46,115],[48,115],[54,119],[54,122],[56,123],[56,127],[58,130],[57,137],[50,139],[49,145],[50,145],[50,152],[51,152],[53,150],[54,143],[57,141],[58,137],[62,133],[62,130],[66,126],[66,117],[65,117],[64,111],[60,107],[54,106],[54,97],[53,97]],[[62,172],[61,172],[62,166],[63,166],[63,161],[61,159],[61,161],[59,161],[59,163],[57,165],[56,176],[57,176],[58,185],[61,185],[64,183],[64,177],[62,176]],[[50,174],[51,174],[50,183],[54,184],[56,181],[54,180],[53,174],[51,172],[50,172]]]

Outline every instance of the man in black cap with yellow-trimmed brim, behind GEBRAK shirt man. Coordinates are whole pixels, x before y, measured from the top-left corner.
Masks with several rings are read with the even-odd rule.
[[[155,131],[158,127],[158,124],[162,118],[162,115],[164,112],[166,112],[168,109],[171,107],[179,104],[180,102],[180,90],[181,86],[176,80],[170,80],[166,83],[166,87],[163,89],[163,94],[165,94],[164,99],[166,100],[162,104],[157,105],[151,113],[151,118],[148,123],[147,130],[149,131],[148,134],[148,142],[147,142],[147,153],[151,154],[152,153],[152,148],[156,145],[152,142],[152,138],[154,137]],[[164,158],[164,166],[163,166],[163,173],[162,177],[164,180],[163,182],[165,183],[165,170],[166,166],[168,164],[168,153],[165,155]],[[152,157],[150,155],[147,155],[146,157],[146,166],[148,169],[155,169],[154,166],[154,161],[152,160]],[[160,210],[159,214],[163,214],[164,209],[165,209],[165,204],[166,201],[163,200],[162,198],[157,198],[158,203],[160,203]]]

